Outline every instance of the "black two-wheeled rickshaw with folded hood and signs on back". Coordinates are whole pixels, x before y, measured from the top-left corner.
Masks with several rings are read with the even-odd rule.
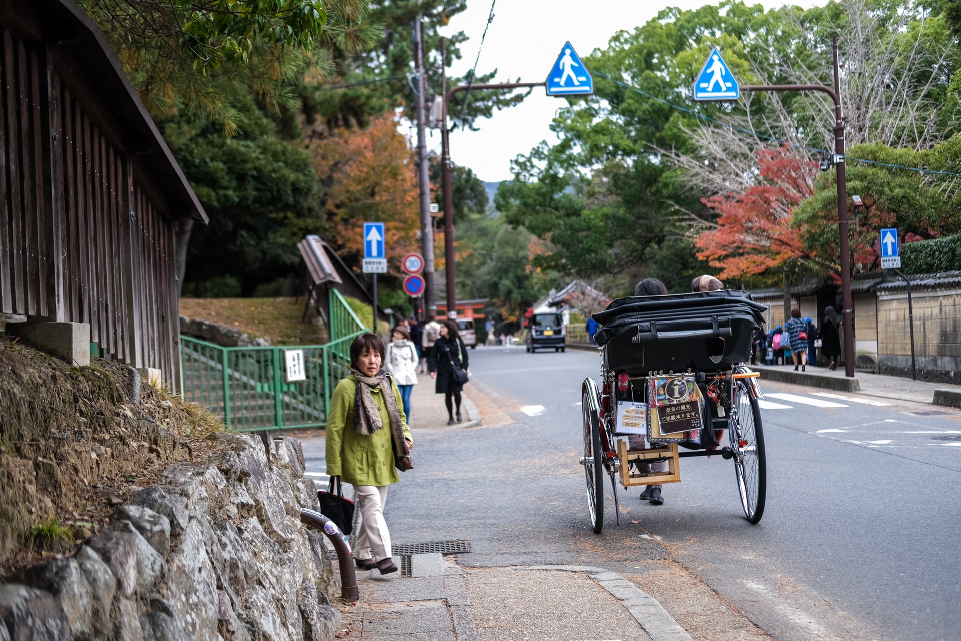
[[[767,461],[758,373],[745,364],[764,306],[747,292],[635,296],[593,314],[601,354],[601,387],[581,386],[584,467],[594,532],[604,528],[604,477],[614,513],[617,481],[680,481],[679,459],[716,456],[734,462],[744,514],[764,514]],[[681,451],[683,450],[683,451]],[[667,461],[666,471],[650,464]]]

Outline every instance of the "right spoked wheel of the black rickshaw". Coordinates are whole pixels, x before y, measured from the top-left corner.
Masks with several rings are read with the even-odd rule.
[[[761,408],[757,399],[751,397],[748,385],[742,381],[737,382],[737,412],[734,416],[737,420],[731,420],[731,449],[736,453],[734,473],[737,476],[738,494],[741,495],[745,517],[751,523],[758,523],[764,516],[767,500],[767,456],[764,451]]]

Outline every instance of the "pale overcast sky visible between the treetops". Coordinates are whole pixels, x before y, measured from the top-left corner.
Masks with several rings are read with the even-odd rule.
[[[560,52],[570,40],[580,56],[595,47],[603,47],[620,30],[631,30],[644,24],[662,8],[677,6],[693,9],[704,0],[673,0],[669,3],[651,0],[500,0],[494,6],[494,20],[487,30],[480,51],[479,72],[497,68],[496,81],[542,82]],[[781,0],[762,0],[766,7],[783,4]],[[823,0],[796,0],[792,4],[809,7]],[[467,11],[451,20],[441,33],[463,31],[470,37],[461,48],[463,59],[453,72],[463,75],[474,65],[480,45],[489,0],[470,0]],[[495,111],[490,119],[478,121],[480,131],[457,130],[451,135],[451,157],[459,165],[474,169],[480,180],[504,181],[511,178],[510,160],[528,154],[541,140],[554,142],[556,136],[548,126],[554,111],[562,107],[562,98],[551,98],[535,87],[519,106]],[[416,130],[413,132],[416,135]],[[440,135],[431,131],[430,149],[439,154]]]

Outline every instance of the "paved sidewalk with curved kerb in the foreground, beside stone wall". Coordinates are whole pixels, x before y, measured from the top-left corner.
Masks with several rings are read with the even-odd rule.
[[[338,606],[337,638],[691,641],[651,596],[603,568],[462,569],[439,553],[413,555],[411,568],[409,579],[358,570],[361,600]]]

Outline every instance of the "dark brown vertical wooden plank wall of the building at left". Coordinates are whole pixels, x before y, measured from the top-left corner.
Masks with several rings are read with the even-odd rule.
[[[158,368],[173,386],[174,221],[42,54],[7,30],[0,37],[0,312],[88,323],[108,355]],[[56,95],[41,93],[47,87]],[[46,157],[45,131],[54,141]],[[49,283],[59,283],[50,270],[62,298],[50,296]]]

